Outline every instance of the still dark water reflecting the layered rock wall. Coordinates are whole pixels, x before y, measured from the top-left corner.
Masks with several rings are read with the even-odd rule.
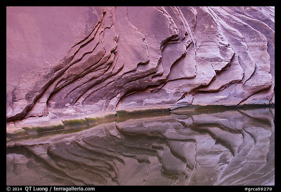
[[[274,108],[118,119],[10,141],[7,185],[274,185]]]

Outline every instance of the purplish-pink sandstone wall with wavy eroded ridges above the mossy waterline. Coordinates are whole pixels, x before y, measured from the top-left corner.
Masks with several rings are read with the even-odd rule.
[[[274,103],[274,7],[7,7],[7,120]]]

